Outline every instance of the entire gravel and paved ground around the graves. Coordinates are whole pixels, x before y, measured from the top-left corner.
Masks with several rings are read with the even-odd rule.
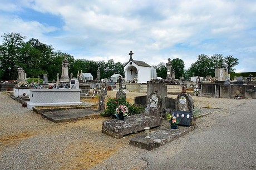
[[[126,94],[129,102],[145,95]],[[115,97],[115,92],[108,96]],[[255,100],[193,98],[198,106],[227,110],[200,118],[195,131],[146,151],[129,145],[137,134],[121,139],[102,134],[107,118],[53,123],[0,93],[0,169],[223,169],[218,167],[232,163],[240,166],[225,169],[255,169]],[[238,129],[240,124],[245,126]]]

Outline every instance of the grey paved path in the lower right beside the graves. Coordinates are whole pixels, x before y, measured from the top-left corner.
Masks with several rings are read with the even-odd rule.
[[[225,104],[226,111],[200,118],[195,131],[142,156],[145,169],[256,169],[256,101]]]

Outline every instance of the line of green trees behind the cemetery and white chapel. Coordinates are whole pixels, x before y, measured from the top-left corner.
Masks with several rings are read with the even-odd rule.
[[[73,56],[61,51],[54,51],[51,45],[44,44],[38,39],[31,38],[25,41],[26,37],[19,33],[3,34],[3,43],[0,45],[0,80],[16,80],[17,68],[21,67],[27,73],[27,78],[42,77],[48,74],[48,79],[57,78],[57,73],[61,73],[62,61],[69,62],[69,73],[83,72],[91,73],[93,78],[97,78],[97,69],[100,69],[100,78],[110,78],[112,74],[120,73],[124,76],[125,63],[109,61],[92,61],[87,59],[75,59]],[[192,76],[215,76],[215,67],[222,67],[229,73],[234,72],[238,59],[233,56],[224,57],[223,54],[213,54],[209,57],[200,54],[196,62],[192,63],[189,69],[184,69],[184,61],[180,58],[172,60],[175,78],[184,77],[188,79]],[[157,77],[166,78],[166,63],[161,62],[156,69]]]

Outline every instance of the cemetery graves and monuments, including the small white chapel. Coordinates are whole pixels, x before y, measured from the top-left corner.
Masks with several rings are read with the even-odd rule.
[[[175,79],[170,59],[166,63],[168,76],[158,79],[155,69],[145,62],[135,61],[132,54],[130,51],[125,77],[114,74],[109,81],[100,79],[99,68],[97,78],[82,71],[73,77],[72,73],[68,74],[68,61],[64,59],[62,73],[57,73],[56,82],[48,82],[47,74],[43,74],[42,80],[33,78],[29,83],[24,70],[18,68],[17,81],[2,83],[1,90],[22,103],[20,107],[27,107],[60,126],[66,126],[63,122],[81,121],[79,124],[86,119],[100,121],[97,131],[101,134],[97,133],[97,136],[117,143],[128,138],[129,146],[147,151],[198,128],[196,120],[199,117],[224,111],[209,103],[199,110],[195,107],[195,97],[255,98],[252,79],[243,81],[235,77],[230,81],[221,68],[215,69],[215,77]],[[136,96],[130,97],[131,93]],[[110,105],[114,107],[111,113]]]

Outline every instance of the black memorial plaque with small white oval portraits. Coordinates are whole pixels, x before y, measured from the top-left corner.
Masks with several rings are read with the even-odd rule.
[[[179,121],[179,125],[190,126],[192,112],[171,111],[171,115],[176,117]]]

